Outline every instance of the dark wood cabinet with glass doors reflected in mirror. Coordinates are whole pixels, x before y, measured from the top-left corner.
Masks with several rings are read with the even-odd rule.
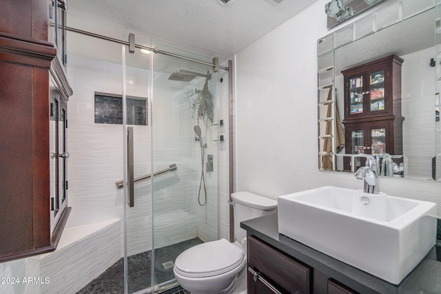
[[[396,55],[348,70],[345,81],[346,154],[402,154],[401,65]],[[345,160],[345,170],[364,165]]]

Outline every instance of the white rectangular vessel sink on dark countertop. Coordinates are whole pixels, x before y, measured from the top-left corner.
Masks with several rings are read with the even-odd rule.
[[[279,233],[392,284],[435,245],[433,216],[433,202],[338,187],[278,197]]]

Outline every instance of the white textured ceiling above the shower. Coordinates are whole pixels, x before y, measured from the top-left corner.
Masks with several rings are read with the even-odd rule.
[[[124,41],[134,33],[229,59],[315,1],[71,0],[68,26]],[[69,54],[90,50],[68,38]]]

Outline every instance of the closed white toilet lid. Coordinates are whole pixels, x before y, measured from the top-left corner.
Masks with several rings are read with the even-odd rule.
[[[175,269],[186,277],[211,277],[235,269],[245,254],[225,239],[198,244],[176,258]]]

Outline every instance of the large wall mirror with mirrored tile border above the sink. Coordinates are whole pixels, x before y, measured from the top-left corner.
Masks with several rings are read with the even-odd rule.
[[[365,165],[365,159],[358,154],[374,154],[378,166],[384,169],[379,171],[380,175],[441,180],[441,7],[435,7],[434,0],[385,2],[387,5],[375,12],[318,40],[319,169],[353,172]],[[363,82],[342,72],[353,67],[361,72],[363,65],[387,56],[402,59],[399,74],[396,67],[389,71],[375,69],[365,76],[367,89],[358,93],[352,90]],[[365,136],[369,139],[360,143],[357,133],[351,131],[353,125],[347,123],[351,112],[360,111],[353,104],[358,101],[362,105],[363,99],[369,99],[371,104],[364,105],[372,113],[387,109],[388,100],[383,99],[380,104],[373,101],[375,97],[386,96],[388,91],[392,95],[392,90],[383,85],[389,75],[393,76],[394,87],[399,85],[393,90],[390,103],[394,103],[394,111],[400,107],[400,116],[404,118],[392,131],[400,135],[395,141],[383,140],[393,135],[387,133],[387,127],[377,124],[368,127]],[[381,119],[374,115],[357,123]],[[385,147],[378,148],[377,143]],[[399,147],[391,148],[392,145]],[[393,162],[393,168],[387,174],[385,167],[389,162]]]

